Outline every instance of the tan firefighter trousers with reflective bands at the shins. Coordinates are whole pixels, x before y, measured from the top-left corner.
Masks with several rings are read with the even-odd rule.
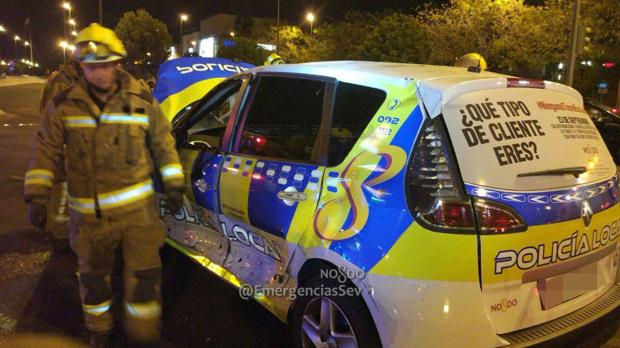
[[[118,217],[80,221],[70,212],[70,243],[78,256],[80,297],[86,328],[94,334],[114,326],[110,273],[115,250],[123,251],[125,331],[130,340],[159,339],[161,315],[161,260],[159,250],[165,229],[155,209],[155,199]],[[74,216],[75,215],[75,216]]]

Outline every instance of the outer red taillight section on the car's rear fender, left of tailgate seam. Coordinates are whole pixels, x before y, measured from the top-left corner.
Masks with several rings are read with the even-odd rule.
[[[429,224],[448,228],[471,228],[474,225],[469,202],[438,201],[435,207],[421,217]]]

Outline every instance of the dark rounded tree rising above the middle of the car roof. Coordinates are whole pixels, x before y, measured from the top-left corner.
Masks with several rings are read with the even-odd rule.
[[[391,14],[372,29],[361,47],[366,60],[401,63],[426,63],[430,43],[414,16]]]

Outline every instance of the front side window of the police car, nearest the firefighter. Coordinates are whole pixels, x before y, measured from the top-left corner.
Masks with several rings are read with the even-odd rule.
[[[189,145],[202,143],[209,147],[219,147],[233,106],[241,95],[241,84],[241,80],[232,81],[192,108],[192,115],[185,131],[185,143]]]

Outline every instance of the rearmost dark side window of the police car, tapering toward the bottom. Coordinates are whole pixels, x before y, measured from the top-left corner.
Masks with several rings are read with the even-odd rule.
[[[342,162],[385,100],[380,89],[339,82],[329,136],[329,162]]]

